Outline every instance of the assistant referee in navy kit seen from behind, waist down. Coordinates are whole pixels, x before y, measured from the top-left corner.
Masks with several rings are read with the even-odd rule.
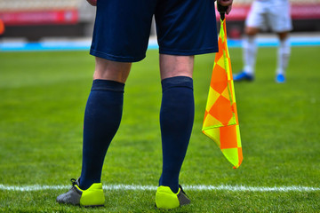
[[[72,180],[68,193],[60,194],[57,201],[104,205],[101,170],[121,122],[124,83],[132,62],[146,56],[155,15],[163,89],[160,109],[163,170],[156,190],[156,207],[173,209],[186,205],[190,201],[179,185],[179,175],[194,122],[194,55],[218,51],[214,1],[88,2],[97,5],[90,51],[96,67],[84,113],[82,172],[77,180]],[[230,12],[232,0],[218,2]]]

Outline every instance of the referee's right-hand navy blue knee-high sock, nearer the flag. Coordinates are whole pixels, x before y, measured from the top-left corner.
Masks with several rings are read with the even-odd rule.
[[[163,98],[160,127],[163,146],[163,172],[159,185],[179,190],[179,174],[188,148],[195,114],[193,80],[187,76],[162,81]]]

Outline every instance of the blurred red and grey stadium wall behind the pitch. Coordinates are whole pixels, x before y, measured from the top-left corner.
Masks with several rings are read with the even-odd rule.
[[[241,37],[252,0],[237,0],[228,15],[228,36]],[[320,31],[320,0],[292,0],[293,32]],[[94,7],[84,0],[0,0],[3,37],[91,36]],[[219,17],[218,17],[219,19]],[[219,21],[218,21],[219,22]],[[153,28],[154,29],[154,28]],[[151,34],[155,34],[152,30]]]

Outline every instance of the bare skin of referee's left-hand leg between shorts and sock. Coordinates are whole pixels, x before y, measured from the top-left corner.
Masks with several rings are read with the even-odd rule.
[[[96,57],[96,67],[93,79],[104,79],[125,83],[130,73],[132,63],[117,62]]]

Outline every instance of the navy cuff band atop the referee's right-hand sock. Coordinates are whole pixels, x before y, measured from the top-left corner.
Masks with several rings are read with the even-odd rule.
[[[193,90],[193,80],[188,76],[175,76],[164,78],[161,81],[163,91],[171,89],[172,87],[186,87]]]

